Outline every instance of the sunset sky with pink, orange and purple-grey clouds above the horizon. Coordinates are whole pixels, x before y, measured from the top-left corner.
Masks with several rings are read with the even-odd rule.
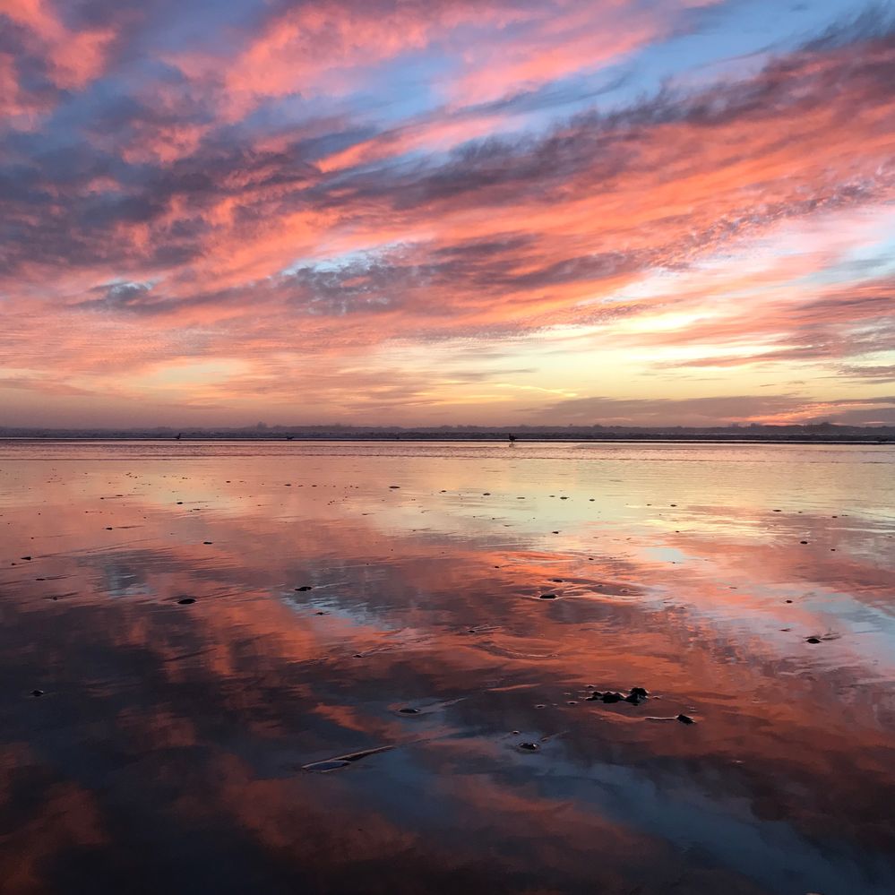
[[[0,0],[0,426],[895,425],[895,2]]]

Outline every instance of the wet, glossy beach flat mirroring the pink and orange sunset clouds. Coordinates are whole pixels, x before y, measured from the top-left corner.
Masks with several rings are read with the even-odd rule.
[[[891,447],[0,444],[4,895],[888,895],[893,805]]]

